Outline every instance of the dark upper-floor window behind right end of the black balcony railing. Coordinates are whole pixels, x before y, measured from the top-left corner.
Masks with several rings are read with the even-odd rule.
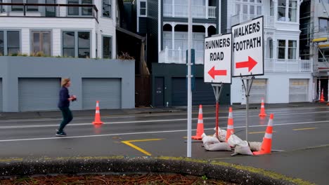
[[[67,0],[67,4],[72,5],[92,5],[93,0]],[[72,6],[68,7],[67,15],[93,15],[93,8],[92,7],[78,7]]]

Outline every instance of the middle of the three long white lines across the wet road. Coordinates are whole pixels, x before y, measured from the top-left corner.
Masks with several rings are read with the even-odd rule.
[[[329,113],[329,111],[318,111],[318,112],[307,112],[307,113],[292,113],[292,114],[275,114],[275,116],[290,116],[290,115],[299,115],[299,114],[322,114]],[[250,117],[259,117],[257,115]],[[214,119],[215,117],[203,118],[204,120]],[[220,119],[227,119],[228,117],[220,117]],[[245,116],[234,116],[233,118],[245,118]],[[149,120],[149,121],[117,121],[117,122],[104,122],[103,124],[129,124],[129,123],[153,123],[153,122],[172,122],[172,121],[186,121],[186,118],[181,119],[165,119],[165,120]],[[192,120],[198,120],[198,118],[192,118]],[[58,127],[57,124],[47,124],[47,125],[15,125],[15,126],[0,126],[1,129],[14,129],[14,128],[49,128],[49,127]],[[84,126],[92,125],[92,123],[71,123],[67,126]]]

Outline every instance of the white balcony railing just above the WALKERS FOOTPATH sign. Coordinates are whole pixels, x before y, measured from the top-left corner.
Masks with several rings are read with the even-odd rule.
[[[258,18],[259,16],[262,15],[253,15],[253,14],[245,14],[245,13],[233,15],[231,17],[231,25],[237,25],[241,22]],[[274,17],[269,15],[264,15],[264,28],[274,28],[274,27],[275,27]]]

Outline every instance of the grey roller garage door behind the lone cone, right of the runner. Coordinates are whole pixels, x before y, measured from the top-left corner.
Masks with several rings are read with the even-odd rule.
[[[82,78],[82,97],[83,109],[121,109],[121,78]]]

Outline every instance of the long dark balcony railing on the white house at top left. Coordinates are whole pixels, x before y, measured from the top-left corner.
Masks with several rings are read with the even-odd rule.
[[[0,4],[0,17],[95,18],[93,4]]]

